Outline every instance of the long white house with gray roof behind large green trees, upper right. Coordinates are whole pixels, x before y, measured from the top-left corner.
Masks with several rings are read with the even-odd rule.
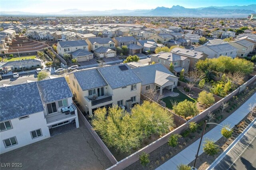
[[[227,55],[232,58],[236,57],[237,48],[228,43],[222,43],[217,45],[206,45],[194,48],[195,51],[200,51],[208,55],[208,58],[217,58],[221,55]]]

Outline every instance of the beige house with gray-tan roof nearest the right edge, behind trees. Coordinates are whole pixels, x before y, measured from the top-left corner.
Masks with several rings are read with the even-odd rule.
[[[238,57],[247,57],[249,53],[252,53],[255,45],[255,43],[249,42],[247,40],[238,40],[230,42],[229,44],[238,49]]]

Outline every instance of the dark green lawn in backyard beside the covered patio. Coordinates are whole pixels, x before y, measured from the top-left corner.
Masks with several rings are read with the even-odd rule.
[[[179,93],[179,95],[176,96],[176,97],[168,96],[168,97],[164,97],[162,99],[162,101],[164,101],[164,103],[166,103],[166,107],[169,108],[169,109],[172,109],[172,104],[170,102],[171,99],[174,100],[174,101],[177,101],[178,103],[181,102],[181,101],[184,101],[185,99],[187,99],[188,101],[196,102],[196,99],[193,99],[191,97],[188,97],[188,96],[184,95],[178,89],[174,89],[173,92]]]

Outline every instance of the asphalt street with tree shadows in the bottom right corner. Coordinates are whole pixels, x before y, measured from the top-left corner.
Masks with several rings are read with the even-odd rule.
[[[214,170],[256,170],[256,124],[214,167]]]

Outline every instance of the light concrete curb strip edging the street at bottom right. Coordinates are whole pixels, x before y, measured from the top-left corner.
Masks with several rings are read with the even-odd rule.
[[[228,154],[228,152],[230,152],[230,150],[234,148],[234,146],[242,139],[242,137],[244,137],[244,135],[250,130],[250,128],[252,128],[254,123],[256,123],[256,118],[250,123],[250,125],[248,125],[248,127],[246,127],[246,129],[244,129],[241,134],[239,134],[239,136],[230,144],[230,146],[228,146],[228,148],[226,148],[224,152],[222,152],[220,156],[218,156],[218,158],[216,158],[216,160],[214,160],[214,162],[212,162],[212,164],[210,164],[210,166],[206,168],[206,170],[213,169]]]

